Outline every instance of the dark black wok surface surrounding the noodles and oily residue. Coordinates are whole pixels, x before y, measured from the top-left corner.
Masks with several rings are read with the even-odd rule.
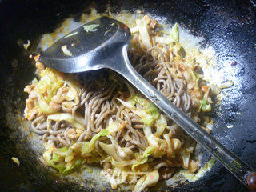
[[[49,33],[66,18],[79,19],[94,6],[104,12],[143,9],[170,23],[178,22],[192,34],[202,36],[202,46],[213,46],[218,56],[219,73],[234,86],[213,112],[212,134],[254,169],[256,168],[256,8],[247,1],[0,1],[0,190],[1,191],[109,191],[101,177],[70,181],[53,174],[38,161],[30,130],[22,121],[27,95],[23,87],[34,78],[29,54],[38,37]],[[22,42],[32,41],[30,50]],[[237,65],[231,65],[236,61]],[[228,129],[226,126],[233,125]],[[207,159],[208,154],[202,154]],[[20,160],[17,166],[10,160]],[[218,162],[197,182],[172,188],[160,182],[161,191],[246,191]]]

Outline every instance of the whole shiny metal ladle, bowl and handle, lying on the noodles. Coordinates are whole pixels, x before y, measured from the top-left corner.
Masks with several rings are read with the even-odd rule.
[[[134,70],[127,57],[129,42],[130,30],[126,25],[112,18],[102,17],[59,39],[39,59],[46,66],[64,73],[102,68],[118,72],[217,158],[249,190],[256,191],[255,170],[222,146]]]

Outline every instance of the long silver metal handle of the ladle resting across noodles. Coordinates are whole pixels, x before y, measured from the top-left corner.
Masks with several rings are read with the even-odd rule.
[[[158,90],[154,88],[145,78],[142,78],[134,67],[131,66],[127,57],[127,47],[124,46],[122,56],[125,63],[120,63],[120,66],[115,67],[113,70],[122,74],[131,84],[154,102],[159,109],[166,115],[174,120],[186,131],[195,141],[197,141],[205,150],[217,158],[223,166],[226,167],[236,178],[240,180],[248,189],[255,191],[255,171],[238,158],[235,154],[227,150],[220,142],[213,138],[210,134],[203,130],[198,123],[189,118],[182,110],[178,109],[172,102],[165,98]],[[121,61],[120,61],[121,62]],[[126,66],[124,66],[126,65]]]

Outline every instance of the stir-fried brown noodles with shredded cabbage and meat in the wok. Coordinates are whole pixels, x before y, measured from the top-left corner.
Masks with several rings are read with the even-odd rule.
[[[219,88],[206,82],[195,57],[200,52],[182,46],[177,23],[170,31],[148,15],[131,23],[134,68],[210,132],[212,98],[232,82]],[[118,74],[63,74],[38,57],[37,77],[24,89],[25,117],[45,146],[44,165],[71,174],[97,163],[113,189],[128,183],[134,191],[169,179],[180,168],[198,171],[196,142]]]

